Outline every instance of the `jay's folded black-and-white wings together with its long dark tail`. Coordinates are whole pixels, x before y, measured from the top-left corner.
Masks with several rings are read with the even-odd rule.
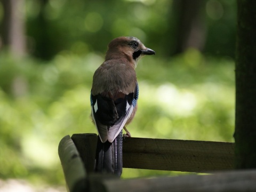
[[[95,159],[95,171],[122,174],[122,129],[137,105],[139,86],[133,93],[113,100],[105,94],[91,93],[92,119],[99,139]]]

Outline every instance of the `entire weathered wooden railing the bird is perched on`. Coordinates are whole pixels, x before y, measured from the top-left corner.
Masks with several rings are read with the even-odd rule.
[[[69,191],[256,191],[256,170],[234,170],[234,143],[126,138],[123,167],[214,173],[119,179],[93,173],[96,134],[74,134],[59,144]]]

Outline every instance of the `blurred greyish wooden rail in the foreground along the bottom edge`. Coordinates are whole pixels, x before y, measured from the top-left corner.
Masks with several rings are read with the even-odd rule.
[[[228,171],[211,175],[186,175],[154,179],[103,180],[109,192],[256,191],[256,170]]]

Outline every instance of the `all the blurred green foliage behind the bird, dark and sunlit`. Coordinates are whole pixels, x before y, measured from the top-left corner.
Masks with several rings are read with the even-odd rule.
[[[174,1],[25,2],[30,55],[15,59],[0,47],[0,178],[64,184],[59,141],[97,133],[92,76],[118,36],[136,36],[157,53],[137,67],[133,137],[234,141],[235,0],[203,0],[203,52],[171,58],[180,33]],[[0,1],[0,23],[3,15]],[[124,169],[122,177],[159,174],[178,173]]]

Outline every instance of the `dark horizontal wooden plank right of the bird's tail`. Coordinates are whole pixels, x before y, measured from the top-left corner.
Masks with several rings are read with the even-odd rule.
[[[234,169],[234,143],[126,138],[123,167],[209,173]]]

